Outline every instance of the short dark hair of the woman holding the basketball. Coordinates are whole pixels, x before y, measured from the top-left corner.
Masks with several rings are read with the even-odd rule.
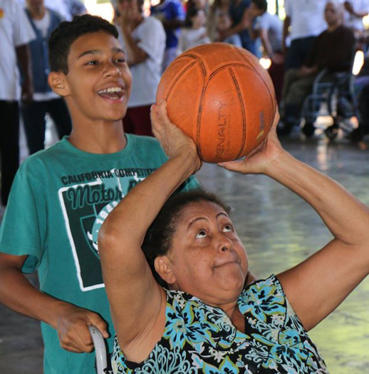
[[[222,207],[229,214],[231,209],[215,193],[194,189],[187,192],[176,193],[168,199],[155,220],[148,228],[145,239],[142,243],[142,251],[145,253],[147,262],[152,273],[160,285],[167,287],[165,282],[155,271],[154,261],[157,256],[164,256],[170,250],[172,237],[182,211],[191,203],[209,201]]]

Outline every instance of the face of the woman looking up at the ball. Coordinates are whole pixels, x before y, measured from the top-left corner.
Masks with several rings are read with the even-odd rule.
[[[210,305],[237,300],[248,269],[246,251],[224,209],[216,203],[191,203],[181,213],[167,258],[171,288]]]

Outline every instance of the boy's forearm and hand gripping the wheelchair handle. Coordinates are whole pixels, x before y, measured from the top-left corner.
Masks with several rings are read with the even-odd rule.
[[[21,272],[27,256],[0,253],[0,302],[7,307],[51,325],[58,331],[61,347],[74,353],[91,352],[88,325],[108,338],[105,321],[97,313],[53,298],[37,290]]]

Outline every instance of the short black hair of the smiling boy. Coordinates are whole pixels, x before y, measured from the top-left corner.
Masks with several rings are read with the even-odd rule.
[[[51,71],[68,74],[68,54],[76,39],[85,34],[105,31],[118,39],[117,28],[105,19],[90,14],[74,16],[73,21],[63,21],[48,40],[48,61]]]

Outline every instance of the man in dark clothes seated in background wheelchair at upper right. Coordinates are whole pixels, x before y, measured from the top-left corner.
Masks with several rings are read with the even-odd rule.
[[[343,6],[337,1],[329,1],[324,9],[324,18],[328,29],[314,42],[305,64],[286,73],[281,108],[284,126],[279,127],[279,134],[289,133],[298,121],[303,100],[311,93],[313,82],[321,70],[329,69],[334,74],[350,69],[355,37],[353,31],[342,24]],[[326,79],[333,79],[333,75]]]

